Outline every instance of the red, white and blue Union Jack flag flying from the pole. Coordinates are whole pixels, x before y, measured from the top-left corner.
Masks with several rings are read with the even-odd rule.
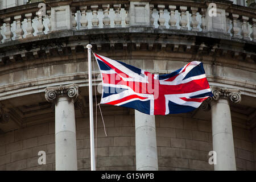
[[[130,107],[150,115],[187,113],[213,96],[203,63],[192,61],[158,75],[94,53],[102,78],[101,104]]]

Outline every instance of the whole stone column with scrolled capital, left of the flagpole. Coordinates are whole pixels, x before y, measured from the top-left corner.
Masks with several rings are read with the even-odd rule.
[[[56,171],[77,171],[76,125],[74,102],[76,84],[47,87],[46,100],[55,103]]]

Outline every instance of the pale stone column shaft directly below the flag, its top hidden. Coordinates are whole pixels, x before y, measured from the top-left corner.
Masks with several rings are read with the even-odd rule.
[[[135,110],[136,169],[158,170],[155,116]]]

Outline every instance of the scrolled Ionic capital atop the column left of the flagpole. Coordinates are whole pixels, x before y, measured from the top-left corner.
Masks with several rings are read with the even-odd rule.
[[[79,96],[79,86],[77,84],[49,86],[45,90],[45,97],[48,102],[55,102],[58,96],[67,95],[74,102]]]

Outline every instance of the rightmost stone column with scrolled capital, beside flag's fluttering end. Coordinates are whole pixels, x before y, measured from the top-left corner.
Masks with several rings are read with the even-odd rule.
[[[236,158],[234,154],[234,140],[229,102],[239,103],[241,94],[238,90],[226,88],[212,88],[213,151],[217,154],[215,171],[236,171]]]

